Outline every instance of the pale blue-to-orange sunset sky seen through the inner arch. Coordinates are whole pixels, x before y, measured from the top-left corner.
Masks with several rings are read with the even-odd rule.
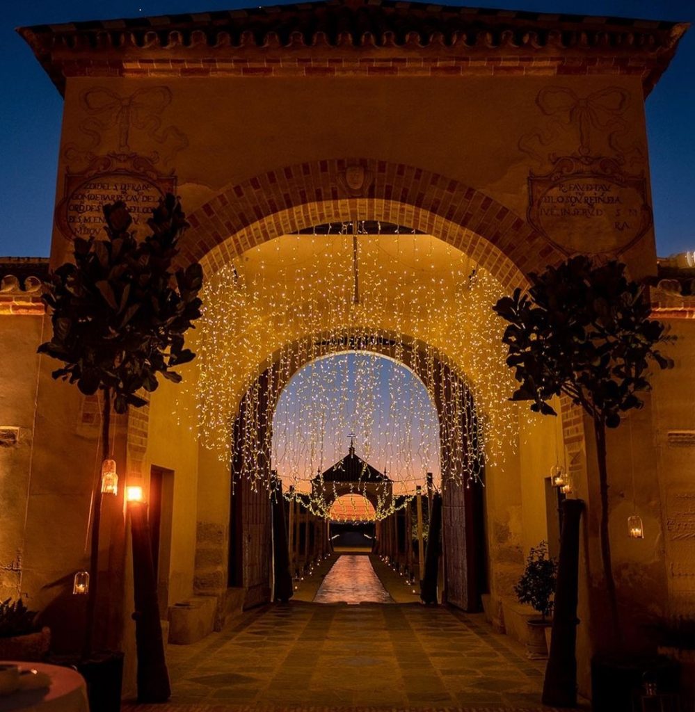
[[[422,381],[380,355],[310,362],[290,380],[273,418],[273,469],[298,491],[355,454],[394,481],[394,495],[439,481],[439,420]],[[350,517],[352,518],[352,517]]]

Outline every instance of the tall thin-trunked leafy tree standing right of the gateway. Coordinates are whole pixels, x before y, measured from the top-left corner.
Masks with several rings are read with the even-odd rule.
[[[592,421],[600,489],[601,560],[611,626],[603,645],[605,650],[611,646],[607,652],[621,654],[622,629],[608,530],[606,431],[620,426],[625,412],[642,407],[639,394],[649,390],[649,365],[671,365],[656,348],[667,337],[664,325],[650,318],[644,287],[630,281],[625,265],[618,261],[594,265],[587,256],[575,256],[541,274],[531,273],[529,280],[528,292],[516,289],[493,306],[508,322],[503,335],[507,364],[520,382],[512,399],[531,401],[532,411],[555,415],[548,401],[564,395]],[[561,647],[554,646],[551,656],[555,649],[560,655]],[[567,656],[563,651],[561,656],[574,659],[573,653]],[[595,709],[629,708],[629,691],[620,704],[615,701],[617,686],[612,672],[596,672],[592,664]],[[601,677],[607,684],[597,688],[595,682]],[[604,705],[601,696],[605,691],[610,700]],[[543,701],[558,706],[565,703],[545,696]]]

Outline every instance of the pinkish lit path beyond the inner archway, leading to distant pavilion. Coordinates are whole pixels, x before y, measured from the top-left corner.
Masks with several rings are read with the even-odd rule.
[[[314,603],[392,603],[366,554],[343,554],[324,578]]]

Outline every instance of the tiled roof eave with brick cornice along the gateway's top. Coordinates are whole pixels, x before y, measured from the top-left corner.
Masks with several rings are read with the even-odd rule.
[[[542,62],[546,75],[640,75],[646,95],[687,28],[687,23],[328,0],[18,31],[61,93],[66,78],[80,75],[257,75],[272,74],[259,70],[277,66],[285,69],[283,75],[291,67],[305,74],[306,68],[379,74],[375,66],[399,75],[431,74],[441,66],[466,74],[480,73],[485,61],[494,68],[508,60],[519,74],[533,73],[526,69]]]

